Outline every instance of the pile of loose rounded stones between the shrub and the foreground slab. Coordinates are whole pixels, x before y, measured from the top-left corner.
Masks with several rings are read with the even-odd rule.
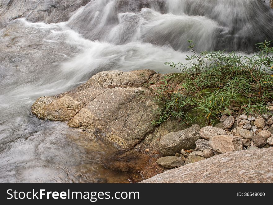
[[[268,107],[273,110],[272,107]],[[222,115],[217,125],[201,128],[193,125],[168,133],[159,141],[165,157],[157,163],[175,168],[231,151],[273,147],[273,112],[263,115]]]

